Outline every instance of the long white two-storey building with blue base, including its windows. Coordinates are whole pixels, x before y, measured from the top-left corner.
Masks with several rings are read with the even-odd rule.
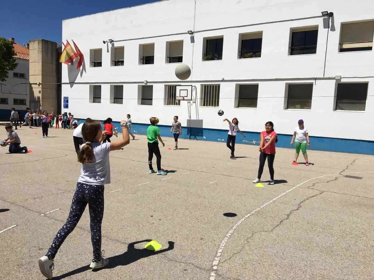
[[[223,117],[237,117],[251,141],[273,121],[280,147],[304,119],[311,149],[374,154],[373,15],[363,0],[165,0],[67,19],[62,40],[79,46],[85,71],[63,65],[62,111],[114,121],[130,113],[137,133],[157,116],[162,135],[174,115],[183,126],[200,119],[183,136],[212,141],[226,140]],[[186,81],[174,74],[181,61],[192,69]],[[176,84],[196,86],[196,103],[179,105]]]

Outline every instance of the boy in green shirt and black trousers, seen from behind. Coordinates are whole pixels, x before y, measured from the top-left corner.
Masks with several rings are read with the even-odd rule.
[[[160,137],[160,128],[156,126],[159,123],[159,119],[156,117],[151,117],[149,118],[149,121],[151,123],[151,125],[147,128],[149,173],[155,173],[152,167],[152,159],[154,154],[156,156],[157,175],[166,175],[167,173],[161,169],[161,154],[158,140],[160,140],[163,147],[165,147],[165,143],[163,143]]]

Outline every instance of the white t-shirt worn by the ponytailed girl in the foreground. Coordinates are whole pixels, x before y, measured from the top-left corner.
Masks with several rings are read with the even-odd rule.
[[[80,146],[85,146],[83,144]],[[93,163],[82,164],[78,182],[90,185],[104,185],[110,183],[110,165],[109,150],[110,143],[91,143],[93,155],[95,157]]]

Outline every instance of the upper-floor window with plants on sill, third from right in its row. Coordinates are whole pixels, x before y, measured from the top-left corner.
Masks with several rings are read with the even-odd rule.
[[[239,58],[261,57],[262,32],[241,34]]]

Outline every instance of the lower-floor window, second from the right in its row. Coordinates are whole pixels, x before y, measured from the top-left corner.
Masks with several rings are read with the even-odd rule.
[[[288,84],[286,109],[312,109],[313,84]]]

